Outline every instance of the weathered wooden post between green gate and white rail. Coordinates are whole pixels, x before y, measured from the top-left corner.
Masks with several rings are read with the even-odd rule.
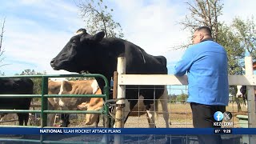
[[[118,58],[118,74],[126,74],[126,58]],[[116,102],[115,128],[122,128],[123,125],[123,108],[125,107],[126,86],[118,84],[118,101]],[[122,135],[114,135],[114,144],[123,143]]]

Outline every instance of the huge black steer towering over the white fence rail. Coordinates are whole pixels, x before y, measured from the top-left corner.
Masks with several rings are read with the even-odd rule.
[[[92,74],[103,74],[110,82],[114,71],[117,70],[118,57],[125,57],[126,74],[167,74],[166,58],[163,56],[147,54],[139,46],[120,38],[104,38],[104,32],[94,35],[87,34],[84,29],[78,32],[80,34],[70,38],[70,42],[67,42],[62,51],[50,62],[54,70],[77,73],[89,71]],[[96,79],[103,90],[104,81],[102,78]],[[139,86],[139,89],[138,86],[126,86],[126,99],[130,102],[126,106],[130,105],[132,110],[138,102],[134,99],[138,99],[138,94],[142,95],[146,111],[152,117],[153,100],[160,98],[164,90],[165,86]],[[167,110],[164,114],[168,114]]]

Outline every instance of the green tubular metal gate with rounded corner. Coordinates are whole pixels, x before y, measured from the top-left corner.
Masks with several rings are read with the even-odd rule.
[[[74,77],[94,77],[102,78],[105,82],[103,94],[48,94],[48,79],[49,78],[74,78]],[[15,76],[0,76],[0,78],[42,78],[42,94],[0,94],[0,98],[41,98],[41,110],[0,110],[0,113],[40,113],[41,114],[41,126],[18,126],[18,127],[46,127],[47,126],[47,114],[104,114],[108,115],[108,106],[104,105],[103,110],[48,110],[47,98],[104,98],[105,101],[109,99],[110,85],[106,77],[102,74],[52,74],[52,75],[15,75]],[[108,118],[105,118],[105,126],[108,126]],[[6,127],[6,126],[3,126]],[[12,126],[8,126],[12,127]],[[16,127],[16,126],[15,126]],[[35,143],[70,143],[63,141],[45,141],[44,135],[40,135],[40,140],[34,139],[12,139],[12,138],[0,138],[0,142],[35,142]],[[84,142],[74,142],[84,143]],[[100,143],[100,142],[89,142]]]

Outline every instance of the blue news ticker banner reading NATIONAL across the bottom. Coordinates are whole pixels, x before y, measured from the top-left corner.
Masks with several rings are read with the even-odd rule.
[[[0,134],[256,134],[256,128],[14,128],[0,127]]]

